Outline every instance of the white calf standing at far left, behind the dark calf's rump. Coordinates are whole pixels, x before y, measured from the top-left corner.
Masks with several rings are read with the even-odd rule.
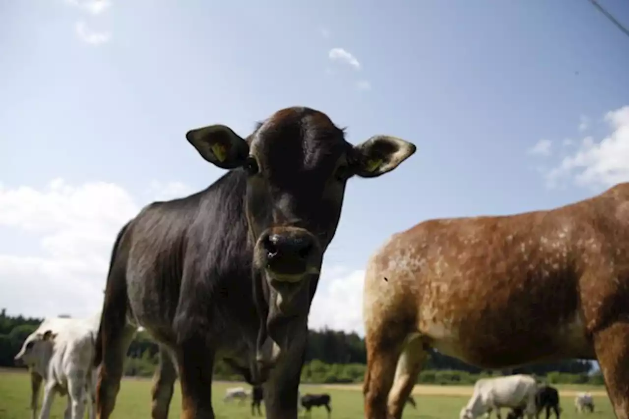
[[[97,371],[92,367],[94,342],[100,315],[87,319],[48,318],[31,333],[15,360],[31,374],[31,418],[35,419],[39,390],[44,384],[40,419],[48,419],[55,392],[67,394],[65,419],[82,419],[87,404],[90,418],[96,416]]]

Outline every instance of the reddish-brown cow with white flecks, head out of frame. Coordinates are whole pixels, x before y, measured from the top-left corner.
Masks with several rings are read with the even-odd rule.
[[[401,417],[432,348],[488,369],[596,359],[627,419],[627,320],[629,183],[554,210],[425,221],[367,266],[365,418]]]

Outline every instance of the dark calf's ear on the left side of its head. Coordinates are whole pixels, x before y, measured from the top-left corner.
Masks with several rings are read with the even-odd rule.
[[[249,154],[247,141],[225,125],[209,125],[187,131],[186,139],[201,157],[221,169],[241,166]]]

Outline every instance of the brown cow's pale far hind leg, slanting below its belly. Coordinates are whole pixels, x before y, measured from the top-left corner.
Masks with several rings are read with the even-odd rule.
[[[406,400],[415,387],[426,355],[419,337],[411,338],[402,351],[398,360],[393,387],[389,393],[389,415],[392,418],[400,419],[402,417]]]

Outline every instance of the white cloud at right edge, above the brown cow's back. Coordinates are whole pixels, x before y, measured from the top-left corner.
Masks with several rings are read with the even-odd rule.
[[[593,137],[583,138],[574,154],[547,173],[548,186],[569,178],[580,186],[595,188],[629,181],[629,106],[608,112],[604,121],[610,134],[599,142]]]

